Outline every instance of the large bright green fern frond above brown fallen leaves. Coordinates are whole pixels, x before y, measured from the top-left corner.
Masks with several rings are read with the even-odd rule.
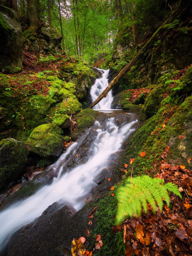
[[[163,200],[169,206],[168,191],[181,197],[178,187],[172,183],[164,184],[164,180],[147,175],[126,180],[124,187],[121,187],[117,194],[119,201],[116,223],[120,223],[126,216],[140,216],[142,208],[147,213],[147,203],[156,212],[156,205],[160,211],[163,210]]]

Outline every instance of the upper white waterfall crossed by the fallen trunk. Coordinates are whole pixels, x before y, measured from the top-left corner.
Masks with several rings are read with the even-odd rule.
[[[108,70],[103,70],[101,69],[104,73],[102,75],[102,78],[96,79],[95,84],[92,85],[90,94],[92,97],[92,101],[95,101],[101,92],[105,90],[105,88],[108,86],[108,74],[109,74],[109,69]],[[108,95],[106,98],[103,98],[97,105],[93,107],[95,110],[106,110],[110,109],[111,103],[113,101],[113,96],[112,92],[108,92]]]

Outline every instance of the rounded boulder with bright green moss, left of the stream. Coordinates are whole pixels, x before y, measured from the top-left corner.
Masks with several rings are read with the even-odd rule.
[[[26,144],[41,157],[60,156],[64,149],[62,133],[54,124],[42,124],[31,132]]]

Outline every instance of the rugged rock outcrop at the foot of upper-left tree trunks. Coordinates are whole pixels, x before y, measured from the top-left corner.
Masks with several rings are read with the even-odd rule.
[[[57,32],[57,29],[50,25],[47,28],[42,28],[39,35],[40,41],[45,45],[44,50],[50,52],[61,52],[61,35]]]

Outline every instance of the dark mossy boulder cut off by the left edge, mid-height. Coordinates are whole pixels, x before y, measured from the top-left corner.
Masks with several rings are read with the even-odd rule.
[[[0,141],[0,188],[14,181],[23,171],[29,154],[28,147],[12,138]]]

